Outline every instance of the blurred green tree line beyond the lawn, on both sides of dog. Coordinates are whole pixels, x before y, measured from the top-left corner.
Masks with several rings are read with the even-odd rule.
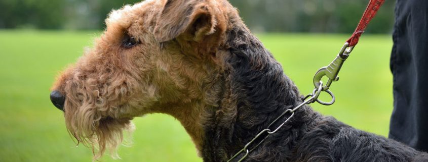
[[[102,29],[111,9],[139,0],[0,0],[0,28]],[[368,0],[230,0],[256,32],[353,32]],[[367,32],[389,33],[395,1]]]

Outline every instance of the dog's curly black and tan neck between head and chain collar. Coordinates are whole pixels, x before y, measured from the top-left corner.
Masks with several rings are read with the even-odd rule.
[[[228,68],[222,75],[224,93],[219,107],[202,115],[205,116],[202,123],[204,161],[227,160],[281,113],[301,103],[297,87],[245,26],[229,30],[227,38],[229,52],[224,67]],[[288,123],[278,132],[280,135],[273,138],[299,138],[299,133],[293,129],[305,125],[304,122],[313,119],[315,114],[307,106],[297,113],[293,118],[298,122]]]

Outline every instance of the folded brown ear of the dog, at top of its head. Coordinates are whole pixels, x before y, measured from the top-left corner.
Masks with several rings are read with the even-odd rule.
[[[168,0],[164,4],[154,35],[160,42],[184,36],[201,41],[213,34],[217,25],[213,8],[205,1]]]

